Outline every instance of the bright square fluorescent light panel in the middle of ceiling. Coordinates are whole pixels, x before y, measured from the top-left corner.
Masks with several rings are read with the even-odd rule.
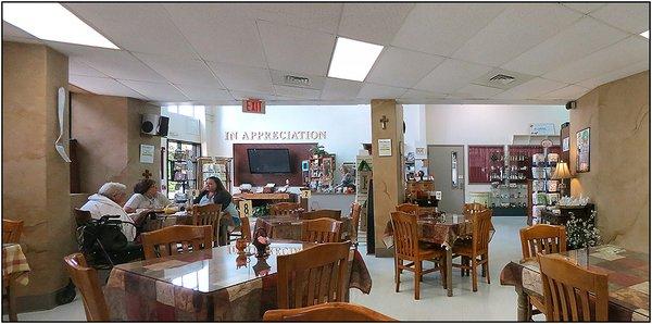
[[[383,51],[383,46],[338,37],[328,76],[363,82]]]

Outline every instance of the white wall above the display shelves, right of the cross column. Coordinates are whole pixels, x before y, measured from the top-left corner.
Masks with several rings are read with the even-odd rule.
[[[567,121],[564,105],[428,104],[422,123],[428,145],[464,146],[465,195],[469,201],[469,192],[490,190],[489,185],[468,184],[469,145],[511,145],[513,135],[529,134],[531,123],[552,123],[559,134],[560,125]]]

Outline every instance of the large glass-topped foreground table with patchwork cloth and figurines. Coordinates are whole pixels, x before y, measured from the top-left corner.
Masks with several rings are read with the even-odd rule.
[[[104,287],[112,321],[259,322],[276,309],[276,257],[314,244],[273,240],[271,256],[240,256],[234,246],[118,264]],[[255,249],[250,246],[249,252]],[[351,250],[349,287],[369,294],[362,256]]]

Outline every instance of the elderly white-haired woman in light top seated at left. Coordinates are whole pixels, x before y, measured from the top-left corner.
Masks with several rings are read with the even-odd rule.
[[[104,215],[117,215],[120,220],[126,223],[138,224],[142,221],[145,213],[127,214],[123,204],[127,199],[127,187],[118,183],[103,184],[98,194],[88,197],[88,202],[80,210],[89,211],[90,215],[99,220]],[[122,232],[128,241],[136,238],[136,227],[129,224],[122,224]]]

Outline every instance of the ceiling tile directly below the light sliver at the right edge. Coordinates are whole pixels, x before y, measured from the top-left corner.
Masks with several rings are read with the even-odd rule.
[[[543,77],[577,84],[648,60],[649,54],[650,42],[640,36],[630,36],[581,60],[547,73]]]

